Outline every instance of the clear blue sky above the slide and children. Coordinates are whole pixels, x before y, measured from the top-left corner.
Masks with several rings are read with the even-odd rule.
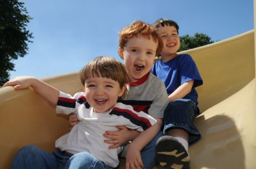
[[[224,40],[254,29],[253,0],[20,0],[33,18],[28,55],[14,60],[15,76],[79,71],[100,55],[115,57],[118,32],[133,20],[175,20],[179,35]]]

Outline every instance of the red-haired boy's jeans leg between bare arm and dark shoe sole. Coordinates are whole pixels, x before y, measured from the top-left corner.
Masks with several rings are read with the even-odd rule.
[[[161,136],[163,132],[159,132],[152,140],[141,150],[141,159],[144,164],[143,169],[152,169],[158,161],[156,159],[156,141]]]

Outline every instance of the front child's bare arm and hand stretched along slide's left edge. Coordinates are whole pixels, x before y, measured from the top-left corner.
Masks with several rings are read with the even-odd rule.
[[[14,90],[26,89],[31,86],[39,95],[53,105],[57,105],[60,91],[31,76],[19,76],[6,82],[3,87],[14,86]]]

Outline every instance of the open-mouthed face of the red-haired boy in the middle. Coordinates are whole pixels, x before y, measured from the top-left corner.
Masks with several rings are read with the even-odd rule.
[[[123,49],[118,48],[132,82],[138,81],[150,71],[157,45],[151,36],[150,39],[141,36],[131,38]]]

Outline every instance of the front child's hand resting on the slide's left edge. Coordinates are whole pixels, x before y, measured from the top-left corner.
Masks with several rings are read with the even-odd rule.
[[[3,87],[14,86],[14,90],[26,89],[32,85],[33,77],[31,76],[19,76],[6,82]]]

